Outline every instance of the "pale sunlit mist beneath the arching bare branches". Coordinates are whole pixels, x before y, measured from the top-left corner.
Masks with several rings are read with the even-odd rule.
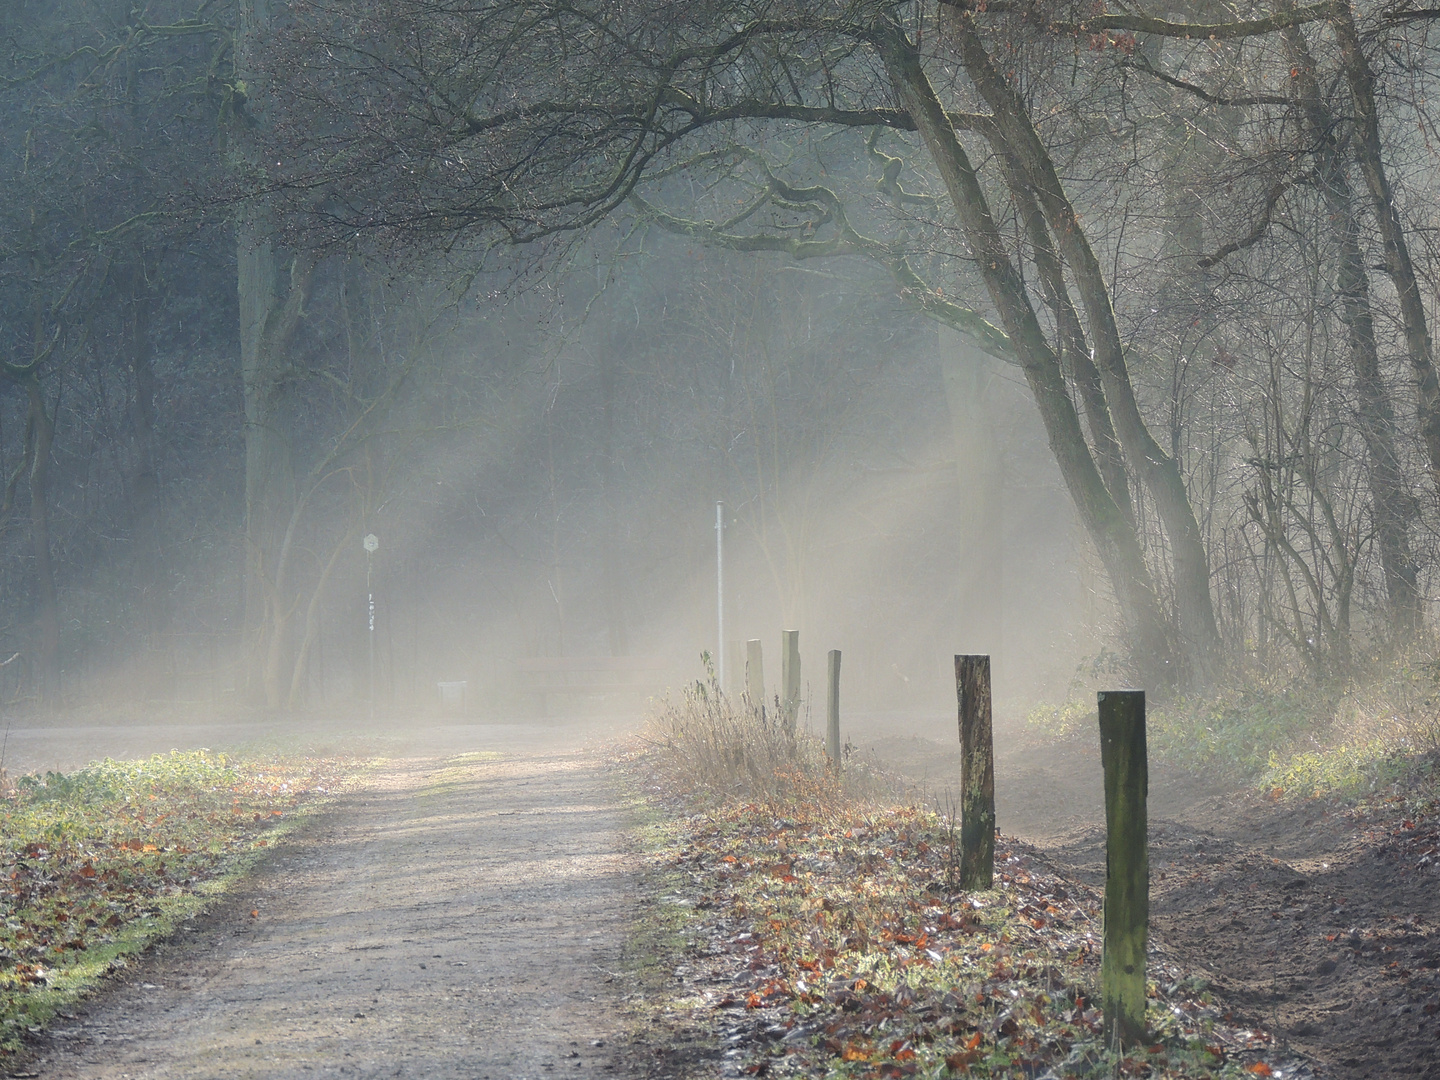
[[[776,693],[780,631],[798,629],[812,701],[825,652],[842,651],[847,710],[949,716],[960,651],[995,657],[1014,708],[1063,693],[1103,641],[1104,605],[1012,369],[900,307],[876,275],[664,239],[605,253],[572,255],[540,287],[497,272],[492,291],[458,300],[433,275],[395,282],[372,266],[317,287],[302,348],[324,396],[292,415],[289,458],[295,490],[315,491],[292,524],[271,713],[638,717],[704,678],[703,652],[719,660],[717,501],[727,688],[743,668],[733,642],[757,638]],[[369,325],[337,348],[347,304]],[[223,340],[199,346],[223,356]],[[187,351],[156,357],[176,416],[157,432],[154,593],[137,589],[124,505],[95,491],[132,446],[58,459],[72,528],[58,706],[76,716],[266,713],[259,642],[242,631],[238,372],[197,373]],[[66,445],[76,426],[124,423],[114,374],[102,357],[73,372]],[[324,390],[341,377],[390,395],[363,439],[354,418],[372,403]],[[6,396],[12,416],[19,405]],[[26,595],[26,569],[7,563],[9,595]],[[0,670],[12,714],[39,693],[22,612],[9,606],[0,641],[19,654]],[[606,657],[634,664],[583,674]],[[537,674],[533,658],[562,662]],[[557,671],[573,667],[563,658],[575,672]],[[445,700],[441,684],[458,683]]]

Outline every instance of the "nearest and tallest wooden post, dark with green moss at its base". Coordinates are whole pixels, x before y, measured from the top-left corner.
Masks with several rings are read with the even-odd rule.
[[[1145,939],[1151,917],[1145,691],[1102,690],[1097,697],[1106,832],[1100,1005],[1104,1044],[1123,1050],[1145,1043]]]

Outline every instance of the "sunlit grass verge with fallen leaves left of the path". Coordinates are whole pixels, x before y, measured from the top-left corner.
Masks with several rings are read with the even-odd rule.
[[[7,785],[0,1060],[225,893],[364,766],[200,750]]]

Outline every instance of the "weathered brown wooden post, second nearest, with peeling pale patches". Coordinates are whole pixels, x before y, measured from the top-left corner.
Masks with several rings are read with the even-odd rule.
[[[960,888],[995,883],[995,743],[989,657],[955,658],[960,703]]]

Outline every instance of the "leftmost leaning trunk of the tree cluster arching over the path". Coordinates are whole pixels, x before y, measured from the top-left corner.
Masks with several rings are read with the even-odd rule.
[[[940,171],[991,301],[1011,337],[1060,474],[1110,577],[1139,675],[1152,684],[1169,685],[1174,680],[1169,626],[1161,613],[1139,540],[1100,478],[1058,357],[1005,251],[969,156],[904,32],[894,24],[881,27],[876,46],[901,108],[914,120]]]

